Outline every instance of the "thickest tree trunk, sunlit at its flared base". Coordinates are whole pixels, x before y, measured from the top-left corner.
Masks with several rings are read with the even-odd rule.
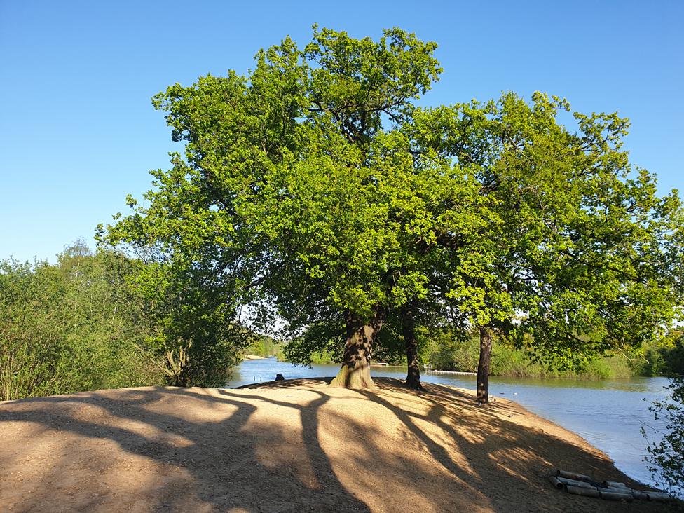
[[[371,379],[371,346],[382,327],[383,316],[380,314],[369,322],[347,315],[347,340],[342,367],[331,381],[331,387],[375,388]]]

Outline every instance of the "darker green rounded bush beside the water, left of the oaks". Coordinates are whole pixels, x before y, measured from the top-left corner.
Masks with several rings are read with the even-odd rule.
[[[207,273],[184,261],[156,262],[142,266],[132,280],[142,348],[162,362],[169,385],[224,385],[252,341],[252,332],[235,322],[231,283],[215,282]]]

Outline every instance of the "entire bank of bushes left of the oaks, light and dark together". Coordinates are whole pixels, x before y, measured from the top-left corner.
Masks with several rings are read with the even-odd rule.
[[[0,261],[0,400],[224,385],[247,331],[231,296],[193,272],[82,243],[55,265]]]

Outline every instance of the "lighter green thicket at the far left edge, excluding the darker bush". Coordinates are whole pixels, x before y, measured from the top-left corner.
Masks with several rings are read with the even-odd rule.
[[[0,263],[0,400],[160,383],[135,346],[126,266],[83,245],[55,266]]]

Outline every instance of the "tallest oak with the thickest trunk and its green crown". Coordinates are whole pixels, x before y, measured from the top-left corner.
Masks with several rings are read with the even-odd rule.
[[[303,50],[285,39],[259,52],[248,76],[171,86],[155,104],[184,158],[156,172],[150,205],[110,227],[111,240],[210,265],[294,329],[341,318],[334,384],[372,386],[371,344],[388,311],[425,283],[404,262],[413,221],[395,214],[416,196],[404,184],[396,202],[387,192],[404,165],[393,149],[405,139],[391,127],[441,71],[434,50],[400,29],[372,41],[314,27]]]

